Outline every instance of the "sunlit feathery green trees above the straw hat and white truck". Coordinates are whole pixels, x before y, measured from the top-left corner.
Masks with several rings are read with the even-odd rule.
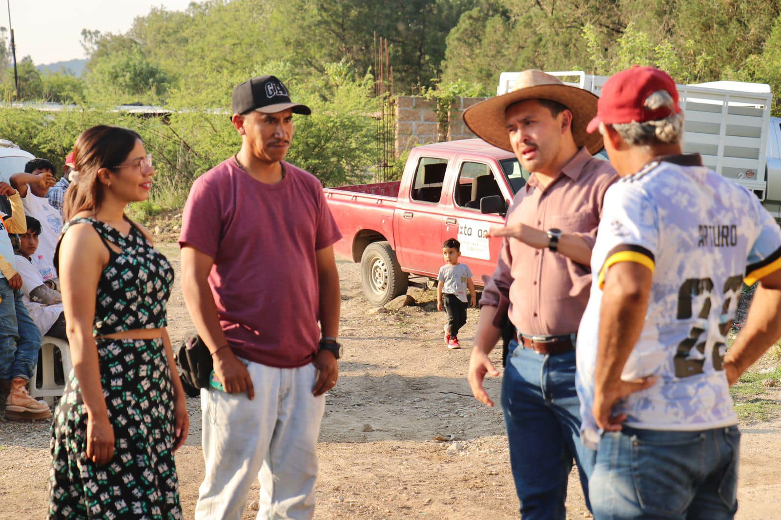
[[[779,16],[778,0],[484,0],[448,35],[443,77],[492,89],[503,71],[642,64],[683,84],[769,83],[778,100]]]

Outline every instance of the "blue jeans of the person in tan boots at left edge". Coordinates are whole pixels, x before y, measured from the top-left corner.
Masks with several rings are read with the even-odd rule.
[[[33,376],[41,350],[41,331],[22,301],[22,291],[0,279],[0,379]]]

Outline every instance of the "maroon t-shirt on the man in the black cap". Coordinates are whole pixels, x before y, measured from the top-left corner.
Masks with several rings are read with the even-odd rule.
[[[341,233],[311,173],[284,162],[274,185],[233,159],[193,183],[179,245],[214,258],[209,274],[219,323],[234,353],[278,368],[306,365],[320,330],[315,251]]]

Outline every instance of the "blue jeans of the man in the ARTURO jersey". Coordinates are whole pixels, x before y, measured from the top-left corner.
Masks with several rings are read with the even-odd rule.
[[[737,426],[604,433],[589,482],[594,519],[733,518],[739,449]]]

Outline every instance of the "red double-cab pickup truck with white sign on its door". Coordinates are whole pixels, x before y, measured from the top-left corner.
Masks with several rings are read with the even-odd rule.
[[[361,262],[363,290],[374,305],[405,294],[409,274],[436,278],[448,238],[461,242],[461,262],[482,286],[501,246],[486,232],[504,223],[528,176],[512,152],[480,139],[414,148],[400,181],[326,188],[344,235],[334,251]]]

